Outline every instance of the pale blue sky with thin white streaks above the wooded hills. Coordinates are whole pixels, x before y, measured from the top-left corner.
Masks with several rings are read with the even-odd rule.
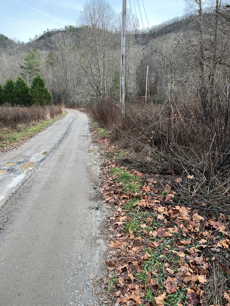
[[[84,0],[5,0],[1,3],[0,34],[12,39],[28,42],[47,28],[63,28],[67,24],[75,25],[75,21],[82,9]],[[109,1],[117,12],[122,10],[122,0]],[[130,0],[132,11],[140,19],[140,10],[144,27],[148,22],[144,13],[142,0]],[[183,0],[143,0],[150,27],[164,20],[183,14]],[[129,7],[129,0],[127,0]],[[140,19],[140,24],[141,19]],[[142,27],[142,26],[141,26]]]

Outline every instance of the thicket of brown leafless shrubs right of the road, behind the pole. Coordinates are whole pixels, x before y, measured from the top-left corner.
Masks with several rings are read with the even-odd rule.
[[[179,97],[174,111],[168,103],[126,103],[122,129],[119,103],[101,99],[87,106],[87,111],[94,121],[111,131],[112,140],[119,140],[126,147],[127,141],[140,148],[147,146],[184,170],[194,168],[202,174],[223,176],[229,172],[230,151],[229,127],[224,124],[225,108],[223,105],[218,114],[213,117],[206,114],[204,118],[197,102],[180,100]]]

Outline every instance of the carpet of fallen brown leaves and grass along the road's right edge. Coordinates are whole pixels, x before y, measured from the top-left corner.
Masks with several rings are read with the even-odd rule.
[[[120,166],[116,146],[94,134],[107,156],[107,297],[116,306],[230,306],[229,215],[196,199],[187,207],[158,175]]]

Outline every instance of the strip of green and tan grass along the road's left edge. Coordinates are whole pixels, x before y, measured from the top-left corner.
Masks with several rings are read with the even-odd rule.
[[[0,147],[7,147],[11,143],[23,140],[23,138],[26,136],[34,135],[36,132],[41,131],[42,129],[51,125],[53,122],[62,118],[64,115],[65,114],[48,121],[32,122],[29,125],[21,123],[18,124],[15,129],[4,128],[0,130]]]

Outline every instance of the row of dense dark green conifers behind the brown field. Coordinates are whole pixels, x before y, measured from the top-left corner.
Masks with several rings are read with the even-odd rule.
[[[33,77],[31,86],[21,76],[15,82],[9,77],[3,86],[0,83],[0,106],[44,106],[50,103],[51,95],[39,75]]]

